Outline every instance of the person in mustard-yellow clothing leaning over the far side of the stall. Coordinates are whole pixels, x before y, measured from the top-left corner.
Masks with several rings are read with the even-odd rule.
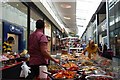
[[[87,45],[85,50],[82,52],[82,54],[85,54],[85,52],[88,52],[88,58],[91,59],[92,55],[94,56],[94,58],[96,58],[97,51],[101,52],[97,44],[95,44],[93,40],[89,40],[89,44]]]

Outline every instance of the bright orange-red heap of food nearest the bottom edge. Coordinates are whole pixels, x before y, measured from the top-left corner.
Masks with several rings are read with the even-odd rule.
[[[68,70],[61,70],[58,73],[53,75],[55,79],[73,79],[75,72]]]

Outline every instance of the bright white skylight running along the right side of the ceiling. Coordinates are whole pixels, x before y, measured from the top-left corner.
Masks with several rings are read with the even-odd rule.
[[[92,15],[95,13],[102,0],[76,0],[76,24],[78,35],[82,36]],[[79,27],[79,25],[83,27]]]

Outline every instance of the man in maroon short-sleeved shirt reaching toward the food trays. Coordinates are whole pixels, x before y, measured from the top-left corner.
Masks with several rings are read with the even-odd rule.
[[[44,21],[37,20],[36,31],[29,36],[29,64],[31,67],[32,77],[36,78],[39,76],[39,66],[47,65],[47,60],[52,60],[55,63],[59,63],[58,59],[52,58],[49,54],[47,48],[48,40],[43,34],[44,28]]]

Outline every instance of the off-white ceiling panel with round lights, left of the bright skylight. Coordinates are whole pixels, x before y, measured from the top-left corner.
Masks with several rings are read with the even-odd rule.
[[[53,5],[65,28],[77,33],[76,2],[53,2]]]

